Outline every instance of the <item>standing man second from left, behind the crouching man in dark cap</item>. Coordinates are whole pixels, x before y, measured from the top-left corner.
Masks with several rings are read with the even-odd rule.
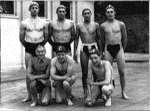
[[[66,19],[66,7],[60,5],[57,10],[57,20],[49,24],[49,43],[53,47],[53,56],[56,55],[57,46],[63,45],[67,53],[71,55],[71,43],[75,38],[75,26],[73,21]]]

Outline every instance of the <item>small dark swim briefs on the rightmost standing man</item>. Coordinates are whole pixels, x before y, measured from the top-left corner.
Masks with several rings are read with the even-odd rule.
[[[107,51],[111,54],[113,58],[115,58],[120,50],[120,45],[107,45]]]

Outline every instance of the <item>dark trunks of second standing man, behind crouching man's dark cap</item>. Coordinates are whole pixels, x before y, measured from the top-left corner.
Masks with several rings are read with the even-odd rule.
[[[53,43],[53,51],[56,51],[57,47],[60,46],[60,45],[64,46],[66,48],[67,52],[71,52],[70,43],[58,43],[58,42]]]

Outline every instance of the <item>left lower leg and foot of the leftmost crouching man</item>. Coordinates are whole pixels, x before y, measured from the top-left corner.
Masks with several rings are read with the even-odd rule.
[[[37,86],[37,81],[36,80],[31,81],[30,83],[30,89],[31,89],[30,93],[32,97],[31,107],[36,106],[38,103],[38,97],[37,97],[38,91],[37,91],[36,86]]]

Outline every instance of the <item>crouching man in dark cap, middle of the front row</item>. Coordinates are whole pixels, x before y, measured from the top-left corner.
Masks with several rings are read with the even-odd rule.
[[[51,60],[51,78],[54,80],[53,87],[56,92],[56,102],[61,103],[64,99],[67,105],[73,105],[71,101],[71,87],[75,82],[76,75],[73,71],[74,60],[66,55],[66,48],[58,46],[56,57]]]

